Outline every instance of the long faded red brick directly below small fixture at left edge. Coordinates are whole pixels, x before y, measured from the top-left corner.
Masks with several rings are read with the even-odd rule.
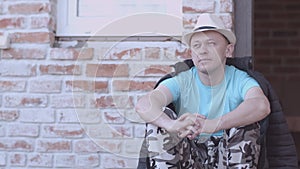
[[[44,59],[46,51],[37,48],[10,48],[2,50],[3,59]]]

